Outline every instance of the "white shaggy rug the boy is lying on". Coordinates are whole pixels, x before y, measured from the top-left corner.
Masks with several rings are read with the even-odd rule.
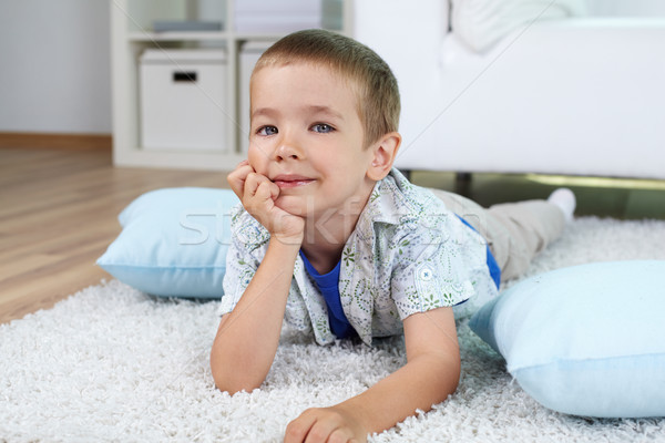
[[[665,259],[665,222],[580,218],[529,275],[649,258]],[[0,441],[277,442],[304,409],[358,394],[405,363],[399,339],[319,347],[285,330],[262,389],[229,396],[208,369],[216,307],[111,281],[0,326]],[[370,441],[665,441],[665,419],[590,420],[540,406],[466,321],[459,336],[457,393]]]

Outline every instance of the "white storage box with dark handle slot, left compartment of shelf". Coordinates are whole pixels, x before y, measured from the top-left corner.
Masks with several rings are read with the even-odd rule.
[[[145,150],[227,151],[224,50],[151,49],[140,71]]]

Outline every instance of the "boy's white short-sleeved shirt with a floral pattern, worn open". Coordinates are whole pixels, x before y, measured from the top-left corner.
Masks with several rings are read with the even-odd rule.
[[[231,226],[221,315],[241,299],[270,237],[242,205],[234,208]],[[375,185],[344,247],[339,275],[342,310],[365,343],[401,333],[402,320],[413,313],[452,307],[474,296],[477,301],[456,307],[456,315],[473,311],[497,292],[487,265],[487,241],[440,199],[397,169]],[[285,320],[297,330],[314,332],[319,344],[336,339],[326,301],[299,256]]]

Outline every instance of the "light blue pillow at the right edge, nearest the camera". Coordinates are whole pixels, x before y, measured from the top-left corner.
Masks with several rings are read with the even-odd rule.
[[[483,306],[471,329],[552,410],[665,415],[665,261],[575,266],[529,278]]]

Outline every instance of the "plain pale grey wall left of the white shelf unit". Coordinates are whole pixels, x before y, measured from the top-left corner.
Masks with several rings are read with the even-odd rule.
[[[0,131],[111,133],[108,0],[0,0]]]

